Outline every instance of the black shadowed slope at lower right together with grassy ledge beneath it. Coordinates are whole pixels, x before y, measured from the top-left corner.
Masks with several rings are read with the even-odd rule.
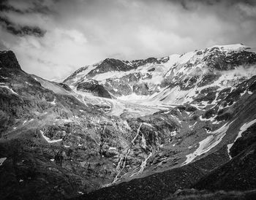
[[[255,135],[254,125],[231,147],[233,159],[191,186],[196,189],[176,191],[167,199],[255,199]]]

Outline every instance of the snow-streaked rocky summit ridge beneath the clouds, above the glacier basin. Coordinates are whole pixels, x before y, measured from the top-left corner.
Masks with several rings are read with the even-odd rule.
[[[248,50],[244,45],[226,45],[165,58],[105,59],[78,69],[64,83],[106,98],[183,104],[192,101],[195,88],[199,91],[209,84],[225,88],[252,77],[255,53]],[[178,96],[170,95],[173,92]]]

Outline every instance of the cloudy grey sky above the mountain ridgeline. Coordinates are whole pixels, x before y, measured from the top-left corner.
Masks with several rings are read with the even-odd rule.
[[[256,1],[1,0],[0,50],[26,72],[67,77],[104,58],[134,60],[243,43],[256,47]]]

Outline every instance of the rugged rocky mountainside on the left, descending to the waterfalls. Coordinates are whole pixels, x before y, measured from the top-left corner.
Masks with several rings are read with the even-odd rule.
[[[0,68],[1,199],[64,199],[112,181],[104,155],[116,154],[106,145],[125,143],[127,125],[67,85],[23,72],[11,51],[0,53]]]

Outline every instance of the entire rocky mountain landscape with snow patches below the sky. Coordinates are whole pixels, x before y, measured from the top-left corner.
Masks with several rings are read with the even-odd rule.
[[[0,61],[3,199],[254,194],[246,191],[256,189],[249,47],[107,58],[62,83],[23,72],[11,51]]]

